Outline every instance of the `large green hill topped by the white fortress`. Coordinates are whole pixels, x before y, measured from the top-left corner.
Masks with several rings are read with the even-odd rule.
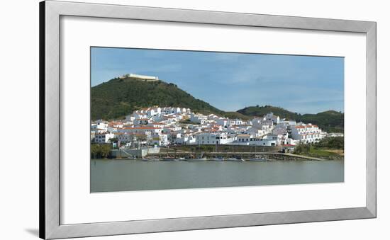
[[[91,120],[124,118],[134,110],[152,105],[177,106],[204,114],[224,115],[222,110],[165,81],[116,78],[91,88]]]

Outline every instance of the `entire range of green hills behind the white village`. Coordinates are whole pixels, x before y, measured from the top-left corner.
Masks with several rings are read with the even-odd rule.
[[[311,122],[327,132],[343,132],[344,130],[344,114],[333,110],[301,115],[271,105],[257,105],[237,112],[224,112],[209,103],[194,98],[175,84],[168,84],[165,81],[145,81],[130,77],[115,78],[91,88],[91,120],[124,118],[134,110],[152,105],[191,108],[196,113],[214,113],[226,118],[242,118],[243,120],[272,112],[281,118]]]

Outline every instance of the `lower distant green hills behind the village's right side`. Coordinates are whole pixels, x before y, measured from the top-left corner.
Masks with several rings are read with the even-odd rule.
[[[252,106],[243,108],[237,111],[243,115],[261,117],[269,112],[278,115],[280,118],[288,120],[296,120],[297,122],[311,122],[318,125],[326,132],[344,132],[344,113],[339,113],[334,110],[328,110],[316,114],[299,114],[294,113],[284,108],[274,107],[271,105]]]

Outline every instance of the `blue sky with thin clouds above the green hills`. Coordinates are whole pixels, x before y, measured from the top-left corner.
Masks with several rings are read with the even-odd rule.
[[[344,112],[344,58],[91,47],[91,86],[123,74],[177,84],[221,110]]]

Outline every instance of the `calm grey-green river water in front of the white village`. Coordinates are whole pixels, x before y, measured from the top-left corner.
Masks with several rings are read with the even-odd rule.
[[[344,161],[91,160],[91,193],[343,181]]]

